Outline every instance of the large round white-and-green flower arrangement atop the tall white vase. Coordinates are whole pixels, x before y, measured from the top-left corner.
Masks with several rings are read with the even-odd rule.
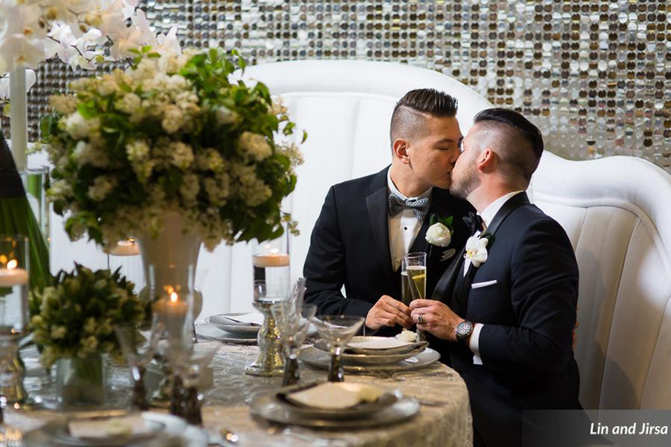
[[[302,158],[295,143],[279,141],[295,125],[261,82],[229,82],[243,59],[214,49],[136,54],[127,71],[52,96],[55,114],[42,121],[55,166],[48,196],[57,213],[70,213],[70,237],[110,245],[156,234],[168,210],[210,250],[277,237],[282,221],[296,233],[280,203]]]

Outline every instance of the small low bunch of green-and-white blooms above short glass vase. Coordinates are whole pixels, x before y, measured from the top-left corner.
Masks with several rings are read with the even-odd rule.
[[[87,358],[107,353],[122,360],[113,326],[145,321],[148,304],[133,293],[133,283],[119,271],[92,272],[75,265],[59,272],[55,285],[31,296],[33,339],[49,367],[59,358]]]

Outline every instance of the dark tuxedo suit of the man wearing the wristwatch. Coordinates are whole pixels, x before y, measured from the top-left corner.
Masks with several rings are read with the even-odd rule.
[[[487,447],[519,446],[524,410],[581,408],[572,349],[578,267],[563,228],[526,193],[508,200],[487,232],[487,261],[463,277],[463,254],[455,258],[434,298],[484,324],[483,365],[473,364],[465,343],[448,344],[468,386],[475,431]]]

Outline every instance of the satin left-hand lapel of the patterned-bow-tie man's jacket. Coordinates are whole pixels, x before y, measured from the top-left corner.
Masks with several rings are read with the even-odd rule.
[[[384,182],[380,188],[366,197],[366,209],[370,228],[373,230],[373,239],[377,256],[382,265],[382,270],[390,281],[394,279],[394,271],[391,270],[391,250],[389,249],[389,218],[387,217],[389,207],[389,192],[387,191],[387,170],[383,170],[375,178],[373,185],[380,186],[381,177],[384,174]]]

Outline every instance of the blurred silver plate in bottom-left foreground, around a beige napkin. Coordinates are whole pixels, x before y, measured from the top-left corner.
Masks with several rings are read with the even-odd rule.
[[[126,416],[128,414],[129,412],[124,410],[108,410],[72,413],[70,416],[79,419]],[[151,435],[80,439],[72,437],[68,433],[68,420],[62,418],[24,433],[23,445],[25,447],[116,447],[147,445],[152,441],[161,442],[170,439],[181,439],[185,442],[183,445],[187,447],[206,447],[208,445],[207,432],[193,425],[188,425],[181,418],[150,411],[142,413],[142,417],[145,423],[150,426]]]

